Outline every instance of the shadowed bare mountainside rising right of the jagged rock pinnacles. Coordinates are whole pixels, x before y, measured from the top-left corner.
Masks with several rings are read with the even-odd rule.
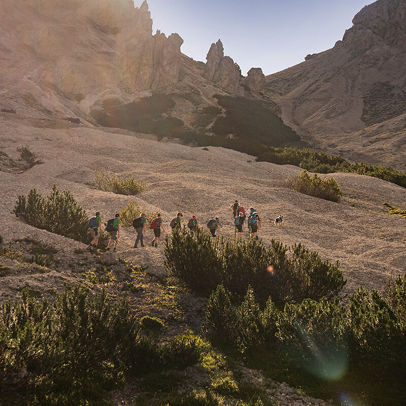
[[[404,170],[406,4],[379,0],[353,24],[332,49],[266,77],[262,91],[314,144]]]

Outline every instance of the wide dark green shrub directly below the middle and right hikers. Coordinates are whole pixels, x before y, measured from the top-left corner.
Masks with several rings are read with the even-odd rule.
[[[174,230],[166,237],[164,266],[190,289],[209,295],[223,284],[238,298],[248,286],[264,304],[269,296],[283,307],[306,297],[335,297],[345,281],[339,263],[322,261],[301,245],[284,247],[273,240],[268,248],[256,240],[217,239],[198,228]]]

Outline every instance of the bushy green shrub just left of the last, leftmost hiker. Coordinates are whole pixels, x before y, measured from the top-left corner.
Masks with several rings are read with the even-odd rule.
[[[59,192],[56,185],[44,199],[36,189],[18,196],[14,214],[32,225],[73,240],[87,242],[89,218],[69,190]]]

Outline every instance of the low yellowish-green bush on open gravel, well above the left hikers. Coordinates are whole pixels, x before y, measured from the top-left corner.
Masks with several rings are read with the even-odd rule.
[[[146,188],[144,184],[136,181],[134,175],[117,178],[116,175],[107,175],[103,169],[95,170],[94,174],[97,188],[105,192],[136,195],[143,192]]]

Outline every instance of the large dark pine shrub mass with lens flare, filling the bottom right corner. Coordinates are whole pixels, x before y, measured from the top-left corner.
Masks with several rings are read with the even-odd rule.
[[[334,392],[355,388],[368,404],[402,404],[406,397],[406,276],[388,283],[386,296],[360,287],[346,303],[322,297],[283,309],[271,298],[262,307],[251,287],[233,302],[220,285],[208,300],[204,331],[256,368],[281,373],[269,364],[277,357],[300,384],[304,377],[325,388],[337,381]]]

